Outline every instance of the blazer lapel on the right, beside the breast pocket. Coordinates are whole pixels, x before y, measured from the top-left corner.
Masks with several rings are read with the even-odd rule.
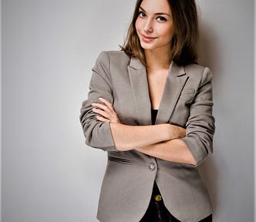
[[[169,122],[170,116],[173,113],[173,109],[177,104],[187,79],[188,76],[185,73],[184,66],[177,66],[175,62],[171,62],[167,82],[163,89],[163,96],[157,113],[156,124]]]

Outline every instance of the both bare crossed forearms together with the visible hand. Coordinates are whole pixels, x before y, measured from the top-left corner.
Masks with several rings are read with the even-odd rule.
[[[100,121],[110,122],[117,150],[134,149],[162,160],[196,164],[186,143],[175,139],[185,136],[186,131],[183,128],[171,124],[126,126],[120,123],[111,103],[103,98],[99,100],[103,104],[93,103],[93,106],[97,108],[93,109],[93,112],[100,115],[96,117]]]

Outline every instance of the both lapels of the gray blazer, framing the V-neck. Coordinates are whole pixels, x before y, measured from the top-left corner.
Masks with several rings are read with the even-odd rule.
[[[128,72],[133,101],[136,107],[137,122],[139,125],[151,125],[151,102],[146,67],[143,66],[140,59],[132,57],[128,66]],[[178,66],[175,62],[171,62],[157,113],[156,124],[169,122],[187,79],[188,76],[184,66]]]

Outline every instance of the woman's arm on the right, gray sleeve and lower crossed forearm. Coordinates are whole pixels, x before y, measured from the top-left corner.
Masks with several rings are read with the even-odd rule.
[[[187,135],[178,140],[156,143],[136,149],[163,160],[200,165],[213,151],[214,116],[212,116],[212,74],[208,68],[202,73],[190,116]]]

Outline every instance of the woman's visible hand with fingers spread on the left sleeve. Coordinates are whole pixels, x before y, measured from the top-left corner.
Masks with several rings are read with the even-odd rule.
[[[99,98],[101,103],[93,103],[92,106],[93,112],[99,114],[100,116],[96,116],[99,121],[102,122],[111,122],[111,123],[121,123],[115,109],[112,104],[109,103],[106,99]]]

